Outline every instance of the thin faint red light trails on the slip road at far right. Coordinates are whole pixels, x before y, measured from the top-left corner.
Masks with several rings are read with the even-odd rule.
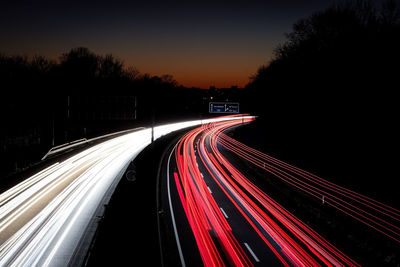
[[[400,242],[400,211],[220,134],[218,144],[291,186]]]

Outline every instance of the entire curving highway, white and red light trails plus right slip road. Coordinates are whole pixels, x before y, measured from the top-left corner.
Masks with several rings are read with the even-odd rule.
[[[258,188],[222,148],[400,242],[398,210],[224,134],[254,119],[224,116],[140,129],[27,178],[0,194],[0,266],[82,263],[93,225],[130,162],[152,138],[189,127],[192,130],[167,153],[166,188],[162,188],[182,266],[358,266]]]

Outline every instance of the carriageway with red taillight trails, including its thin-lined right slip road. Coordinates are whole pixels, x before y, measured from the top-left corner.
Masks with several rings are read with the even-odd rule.
[[[358,221],[368,221],[378,231],[388,235],[389,230],[396,232],[396,226],[383,225],[383,219],[376,215],[381,212],[396,220],[399,217],[393,208],[262,154],[223,133],[253,119],[203,125],[188,132],[170,151],[166,190],[182,266],[359,266],[260,190],[229,162],[221,147],[277,179],[285,179],[296,190],[313,194]],[[388,232],[378,228],[380,225]],[[390,237],[396,238],[393,233]]]

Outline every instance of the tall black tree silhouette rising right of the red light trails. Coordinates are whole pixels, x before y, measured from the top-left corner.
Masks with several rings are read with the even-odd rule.
[[[286,149],[358,187],[390,182],[399,74],[399,1],[347,1],[298,20],[247,85],[265,140],[273,140],[264,150]]]

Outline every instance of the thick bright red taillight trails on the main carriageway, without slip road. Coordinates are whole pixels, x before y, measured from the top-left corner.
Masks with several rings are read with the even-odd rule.
[[[248,243],[243,242],[247,234],[243,234],[243,227],[234,227],[233,219],[219,206],[208,186],[210,182],[204,178],[207,176],[241,215],[248,231],[258,236],[264,252],[272,252],[280,264],[358,266],[261,191],[220,153],[217,144],[222,142],[219,138],[223,136],[222,131],[253,119],[203,125],[182,137],[175,149],[174,182],[204,265],[268,265],[261,262],[262,255],[256,255]],[[226,139],[224,136],[223,140]]]

